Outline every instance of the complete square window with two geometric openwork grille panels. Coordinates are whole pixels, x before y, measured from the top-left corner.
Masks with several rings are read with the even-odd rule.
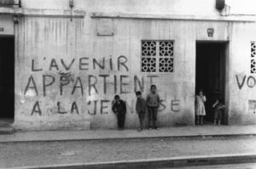
[[[142,41],[143,72],[173,72],[174,41]]]

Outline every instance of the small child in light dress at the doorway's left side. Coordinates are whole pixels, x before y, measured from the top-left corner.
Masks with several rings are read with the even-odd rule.
[[[206,96],[203,91],[200,90],[195,98],[195,115],[196,115],[196,125],[203,125],[203,118],[206,115],[205,102],[207,101]]]

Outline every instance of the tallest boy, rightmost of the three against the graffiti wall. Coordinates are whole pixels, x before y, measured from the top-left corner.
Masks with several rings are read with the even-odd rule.
[[[147,105],[148,105],[148,116],[149,116],[149,129],[159,129],[157,127],[157,112],[160,106],[160,97],[156,93],[156,86],[151,85],[150,93],[147,96]]]

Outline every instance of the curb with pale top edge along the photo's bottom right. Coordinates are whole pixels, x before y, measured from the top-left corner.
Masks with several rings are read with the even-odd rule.
[[[139,168],[164,168],[177,166],[206,166],[206,165],[227,165],[239,163],[256,162],[256,154],[232,154],[232,155],[198,155],[183,157],[168,157],[158,159],[142,159],[130,161],[110,161],[94,163],[76,163],[51,166],[23,166],[14,167],[14,169],[55,169],[55,168],[73,168],[73,169],[139,169]]]

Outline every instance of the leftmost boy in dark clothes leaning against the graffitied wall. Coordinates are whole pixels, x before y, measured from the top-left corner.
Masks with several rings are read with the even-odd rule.
[[[126,105],[123,100],[120,99],[119,95],[114,96],[112,103],[113,113],[117,116],[118,128],[123,130],[125,126],[125,114],[126,114]]]

